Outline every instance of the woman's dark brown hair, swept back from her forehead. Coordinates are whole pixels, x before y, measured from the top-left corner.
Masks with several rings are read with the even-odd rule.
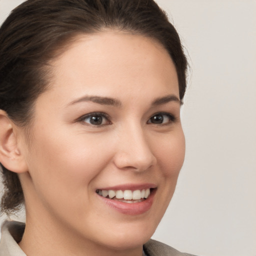
[[[35,99],[49,83],[47,63],[76,35],[104,28],[131,31],[160,42],[174,62],[183,99],[186,57],[175,28],[153,0],[27,0],[0,27],[0,109],[26,127]],[[1,211],[11,213],[22,204],[23,192],[17,174],[0,165]]]

